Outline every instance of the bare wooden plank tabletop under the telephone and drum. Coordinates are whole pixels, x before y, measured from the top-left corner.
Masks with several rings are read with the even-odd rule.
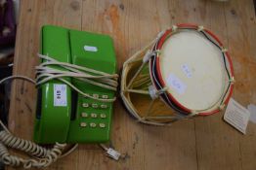
[[[15,75],[34,78],[39,63],[40,28],[44,24],[109,34],[118,66],[172,24],[202,24],[229,48],[235,65],[233,97],[243,106],[256,104],[256,18],[253,0],[22,0],[15,57]],[[14,81],[9,127],[31,139],[36,90]],[[124,160],[109,159],[96,145],[78,150],[49,169],[80,170],[255,170],[256,124],[242,135],[224,122],[223,113],[182,120],[169,127],[149,126],[128,116],[114,103],[112,143]]]

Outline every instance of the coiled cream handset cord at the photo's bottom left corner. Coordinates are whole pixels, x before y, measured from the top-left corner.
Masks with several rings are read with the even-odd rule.
[[[50,150],[45,149],[31,141],[18,138],[11,134],[7,127],[0,120],[4,130],[0,131],[0,160],[11,166],[23,166],[28,169],[31,167],[47,167],[61,157],[66,144],[56,143]],[[7,148],[20,150],[34,158],[22,158],[9,153]]]

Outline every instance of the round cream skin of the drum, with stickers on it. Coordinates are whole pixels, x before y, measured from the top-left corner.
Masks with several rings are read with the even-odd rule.
[[[229,82],[223,52],[202,34],[194,30],[172,34],[155,60],[160,84],[179,105],[205,111],[220,104]]]

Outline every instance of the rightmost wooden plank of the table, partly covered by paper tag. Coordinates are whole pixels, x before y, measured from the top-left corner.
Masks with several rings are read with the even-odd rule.
[[[235,94],[243,105],[256,103],[256,17],[251,1],[231,1],[225,6],[229,46],[235,57]],[[239,135],[240,166],[243,170],[256,167],[256,124],[250,122],[245,136]]]

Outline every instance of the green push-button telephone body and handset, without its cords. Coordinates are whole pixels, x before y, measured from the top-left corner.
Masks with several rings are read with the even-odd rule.
[[[46,25],[41,30],[41,53],[59,62],[116,73],[113,42],[107,35]],[[55,65],[51,67],[64,70]],[[101,86],[72,77],[64,80],[96,98],[114,97],[114,91]],[[112,110],[112,102],[85,97],[70,86],[51,80],[38,89],[34,141],[39,144],[106,143]]]

